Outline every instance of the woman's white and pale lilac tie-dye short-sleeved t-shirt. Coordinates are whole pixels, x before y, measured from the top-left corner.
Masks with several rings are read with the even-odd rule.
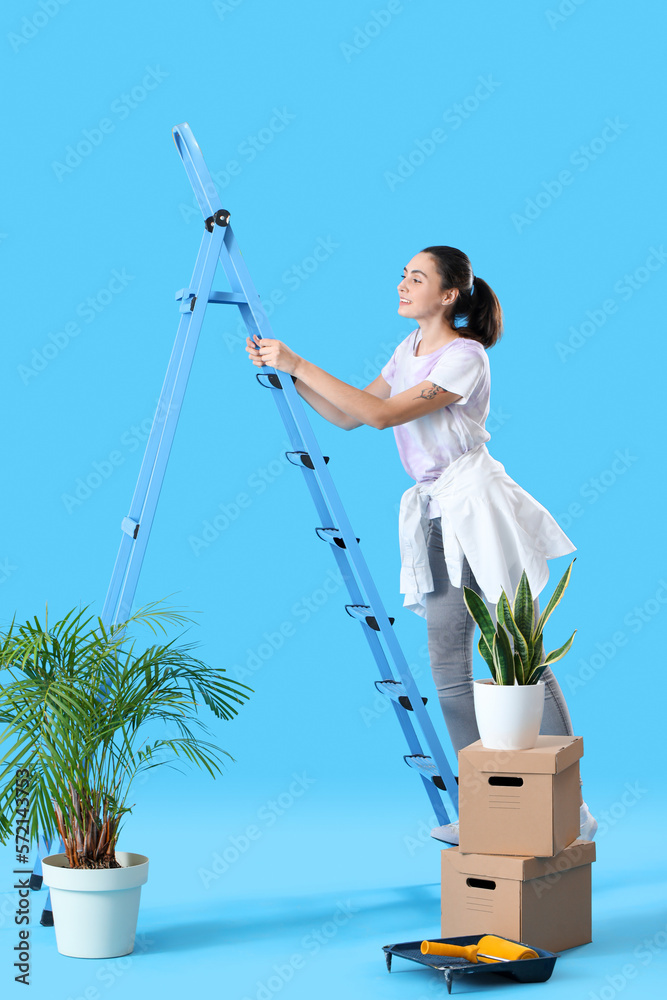
[[[417,327],[398,345],[381,374],[396,396],[428,380],[461,396],[456,403],[394,427],[403,468],[417,483],[434,482],[461,455],[491,435],[484,426],[489,415],[491,375],[484,347],[459,337],[431,354],[415,356],[421,341]],[[438,517],[435,499],[428,516]]]

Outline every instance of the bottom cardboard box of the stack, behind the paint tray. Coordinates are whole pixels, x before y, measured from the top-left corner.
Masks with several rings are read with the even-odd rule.
[[[553,858],[441,853],[442,937],[499,934],[548,951],[591,940],[592,840]]]

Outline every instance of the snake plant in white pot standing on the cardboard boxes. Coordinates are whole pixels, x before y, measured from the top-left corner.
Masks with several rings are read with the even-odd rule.
[[[502,591],[495,625],[479,594],[463,588],[466,607],[481,631],[477,648],[491,671],[491,680],[477,680],[473,685],[477,728],[482,745],[490,750],[528,750],[537,743],[544,712],[544,681],[540,678],[548,666],[565,656],[576,629],[567,642],[546,656],[542,633],[570,582],[574,562],[565,570],[537,622],[525,571],[513,605]]]

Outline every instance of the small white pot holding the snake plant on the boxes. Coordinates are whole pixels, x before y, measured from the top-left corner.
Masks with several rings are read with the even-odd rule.
[[[544,690],[544,681],[475,681],[475,716],[482,746],[487,750],[530,750],[536,746],[544,713]]]

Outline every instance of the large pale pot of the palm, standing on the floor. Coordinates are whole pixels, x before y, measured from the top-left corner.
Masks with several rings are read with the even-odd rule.
[[[68,868],[65,854],[42,861],[61,955],[117,958],[133,950],[148,858],[116,851],[116,860],[120,868]]]

